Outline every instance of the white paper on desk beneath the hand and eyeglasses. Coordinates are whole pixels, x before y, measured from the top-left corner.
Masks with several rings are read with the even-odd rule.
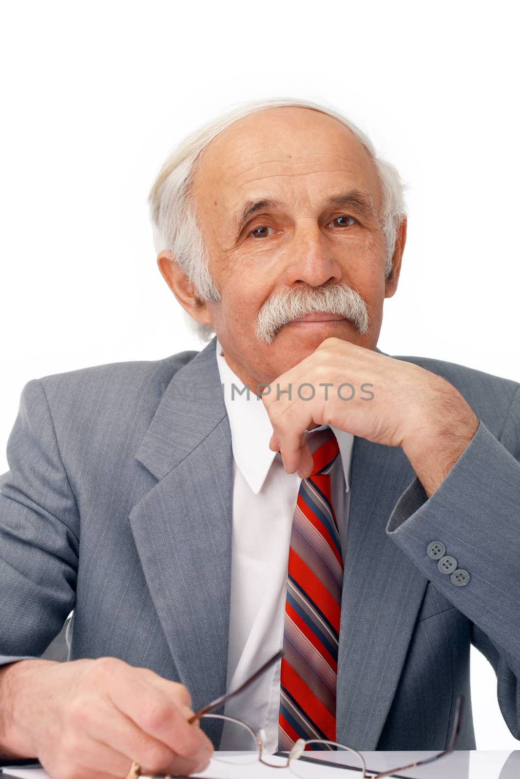
[[[209,767],[203,771],[202,774],[192,774],[193,777],[201,777],[201,779],[267,779],[274,775],[276,769],[270,770],[260,760],[255,763],[250,763],[247,760],[244,763],[244,759],[241,756],[232,757],[226,756],[226,762],[223,763],[220,760],[211,760]],[[284,765],[287,761],[283,757],[269,756],[270,763],[278,763],[278,765]],[[316,779],[328,779],[328,777],[334,777],[338,779],[338,769],[327,766],[318,766],[316,763],[306,763],[306,774],[316,777]],[[50,779],[46,771],[42,768],[5,768],[5,773],[11,776],[19,777],[19,779]],[[357,777],[359,779],[359,771],[349,770],[343,768],[341,770],[341,779],[346,777]],[[2,777],[2,774],[0,774]],[[292,771],[287,770],[284,774],[285,779],[296,779],[295,774]],[[278,771],[276,772],[276,779],[281,779]]]

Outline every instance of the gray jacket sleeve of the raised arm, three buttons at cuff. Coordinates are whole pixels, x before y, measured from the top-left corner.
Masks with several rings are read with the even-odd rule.
[[[520,388],[499,438],[480,421],[430,498],[419,478],[405,489],[386,531],[473,623],[472,643],[493,665],[502,715],[520,738]],[[428,555],[433,541],[454,571]]]

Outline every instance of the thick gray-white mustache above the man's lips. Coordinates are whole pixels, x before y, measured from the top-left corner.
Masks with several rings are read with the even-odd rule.
[[[268,298],[256,315],[256,337],[271,344],[281,327],[320,311],[344,316],[362,335],[369,332],[368,306],[359,292],[348,284],[330,284],[320,289],[297,287]]]

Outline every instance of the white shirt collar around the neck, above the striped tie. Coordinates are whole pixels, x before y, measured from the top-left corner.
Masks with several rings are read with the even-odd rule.
[[[252,391],[248,392],[243,382],[229,367],[218,338],[216,338],[216,355],[231,428],[235,463],[252,492],[257,495],[264,485],[274,457],[280,457],[278,452],[269,449],[273,426],[261,398]],[[326,427],[328,425],[320,425],[319,428],[313,429],[321,430]],[[345,475],[345,492],[348,492],[354,436],[352,433],[333,428],[332,425],[331,430],[338,440]]]

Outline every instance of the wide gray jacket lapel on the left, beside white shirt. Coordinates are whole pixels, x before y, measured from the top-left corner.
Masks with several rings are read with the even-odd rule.
[[[214,391],[219,382],[213,339],[175,373],[161,398],[136,453],[158,481],[129,515],[194,710],[226,689],[232,441],[224,397]]]

